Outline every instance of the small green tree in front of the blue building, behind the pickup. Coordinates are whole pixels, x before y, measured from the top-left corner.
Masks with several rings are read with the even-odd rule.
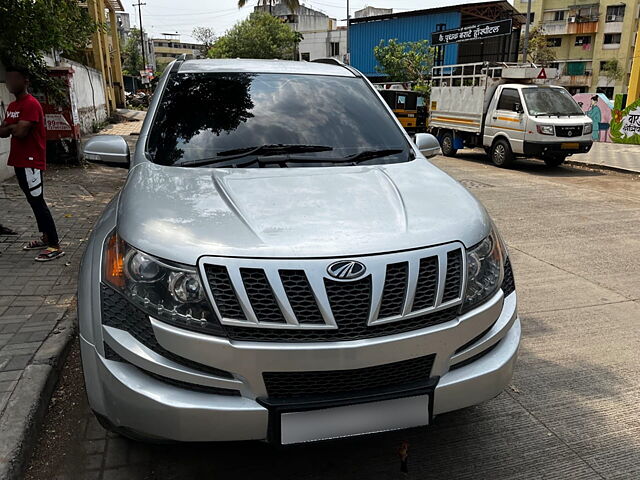
[[[427,40],[398,42],[380,41],[373,48],[378,65],[376,71],[384,73],[391,82],[412,82],[415,90],[428,93],[427,78],[433,66],[434,48]]]

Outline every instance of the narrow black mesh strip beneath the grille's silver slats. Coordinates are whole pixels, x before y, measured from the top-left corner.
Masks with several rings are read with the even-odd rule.
[[[359,322],[347,319],[344,328],[342,324],[338,323],[338,328],[334,330],[247,328],[231,325],[226,326],[225,330],[229,338],[251,342],[340,342],[384,337],[440,325],[454,320],[458,316],[459,309],[459,306],[449,307],[437,312],[405,318],[397,322],[369,326],[362,318]]]

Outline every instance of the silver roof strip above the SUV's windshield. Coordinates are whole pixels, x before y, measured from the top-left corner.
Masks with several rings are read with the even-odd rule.
[[[253,60],[244,58],[185,60],[180,65],[180,69],[178,71],[180,73],[291,73],[302,75],[355,77],[351,70],[341,65],[315,62],[292,62],[288,60]]]

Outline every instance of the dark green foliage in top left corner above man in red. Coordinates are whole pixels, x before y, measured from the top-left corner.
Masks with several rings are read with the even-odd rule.
[[[99,27],[77,0],[0,0],[0,61],[27,68],[35,88],[55,88],[44,54],[71,55]]]

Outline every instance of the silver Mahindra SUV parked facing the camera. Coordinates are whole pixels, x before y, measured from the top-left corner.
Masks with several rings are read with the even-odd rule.
[[[89,402],[124,435],[292,444],[498,395],[520,322],[485,209],[357,70],[167,68],[80,272]],[[130,163],[130,165],[129,165]]]

